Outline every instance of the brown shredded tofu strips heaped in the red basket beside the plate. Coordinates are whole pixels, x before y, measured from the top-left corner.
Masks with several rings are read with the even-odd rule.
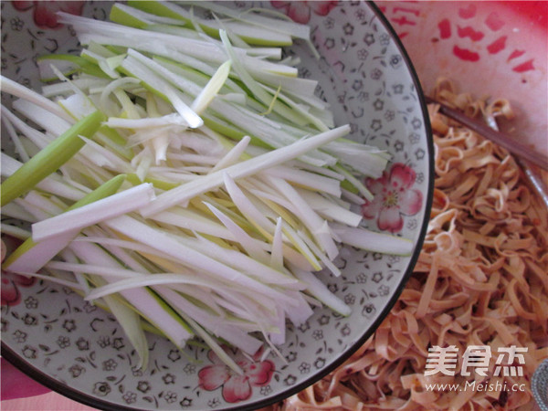
[[[481,116],[511,118],[506,100],[474,100],[440,79],[433,97]],[[406,290],[364,345],[332,374],[271,407],[302,409],[515,409],[548,357],[548,211],[509,153],[428,107],[436,183],[427,237]],[[494,122],[496,124],[496,121]],[[544,179],[546,175],[543,175]],[[523,376],[425,375],[428,348],[526,347]],[[524,390],[427,390],[426,384],[524,384]]]

